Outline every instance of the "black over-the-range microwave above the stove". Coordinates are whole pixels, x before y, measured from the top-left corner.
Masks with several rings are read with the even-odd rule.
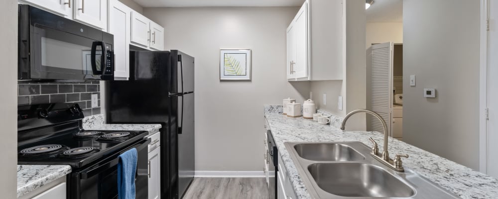
[[[19,81],[114,79],[112,34],[30,5],[18,6]]]

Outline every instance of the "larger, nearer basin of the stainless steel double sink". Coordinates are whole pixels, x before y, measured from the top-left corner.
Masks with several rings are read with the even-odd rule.
[[[322,190],[343,197],[408,198],[415,191],[380,167],[363,163],[315,163],[308,171]]]

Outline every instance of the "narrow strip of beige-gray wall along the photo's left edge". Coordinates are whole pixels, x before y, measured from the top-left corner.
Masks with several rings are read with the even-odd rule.
[[[15,199],[17,190],[17,0],[0,1],[0,193],[3,199]]]

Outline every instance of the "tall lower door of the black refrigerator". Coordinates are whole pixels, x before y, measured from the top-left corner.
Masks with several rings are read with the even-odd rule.
[[[182,133],[178,134],[178,191],[183,196],[194,179],[194,94],[178,97],[178,101],[179,113],[183,105]]]

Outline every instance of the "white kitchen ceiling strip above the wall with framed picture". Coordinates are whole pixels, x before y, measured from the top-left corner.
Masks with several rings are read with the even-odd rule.
[[[300,6],[304,0],[133,0],[142,7]]]

